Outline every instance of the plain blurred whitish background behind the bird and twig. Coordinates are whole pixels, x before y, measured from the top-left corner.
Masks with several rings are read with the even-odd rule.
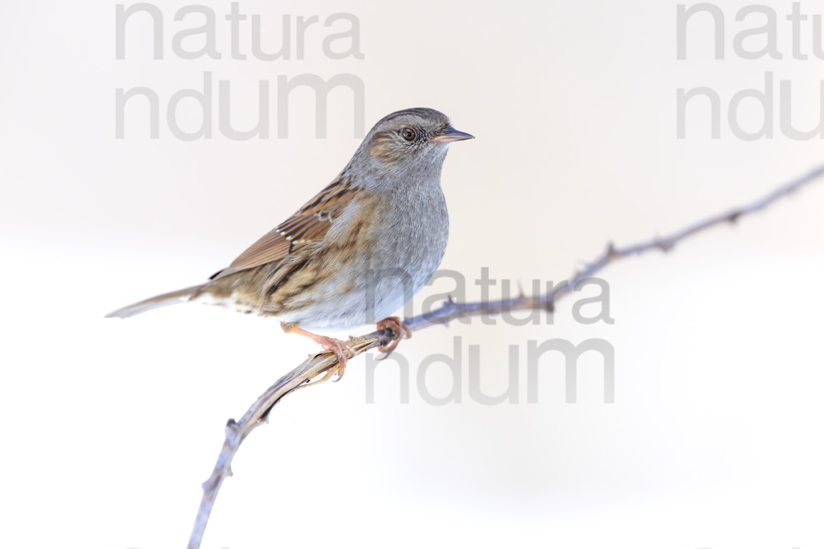
[[[294,93],[289,138],[276,139],[278,75],[357,75],[367,128],[430,106],[477,136],[452,147],[443,174],[442,267],[469,281],[483,266],[559,281],[607,240],[667,234],[822,161],[822,141],[781,136],[777,114],[773,139],[742,142],[723,114],[711,140],[700,101],[676,138],[677,88],[713,87],[725,113],[736,91],[763,88],[765,71],[776,103],[778,80],[792,81],[795,125],[817,123],[824,61],[790,58],[790,2],[770,3],[784,59],[756,61],[732,50],[762,21],[736,22],[743,2],[722,4],[723,61],[699,17],[677,61],[677,2],[469,0],[241,2],[274,33],[269,50],[282,14],[358,17],[363,60],[324,58],[331,30],[316,25],[306,59],[274,62],[229,58],[230,4],[215,2],[224,58],[185,61],[171,36],[199,20],[174,21],[183,5],[163,2],[162,61],[137,16],[115,61],[115,2],[0,7],[5,547],[183,547],[225,421],[313,350],[274,321],[199,305],[102,319],[224,267],[348,161],[359,142],[349,91],[330,95],[326,139],[311,93]],[[115,139],[116,88],[152,87],[165,109],[204,71],[214,86],[232,82],[239,128],[255,117],[256,82],[271,81],[272,138],[235,142],[215,128],[181,142],[164,121],[152,141],[141,107]],[[755,128],[751,107],[742,120]],[[824,184],[666,257],[611,267],[611,326],[574,323],[567,300],[555,325],[455,324],[400,347],[414,373],[455,336],[465,356],[480,344],[484,388],[499,393],[509,345],[602,337],[616,349],[614,404],[593,360],[577,404],[546,358],[541,402],[525,402],[522,379],[522,403],[493,407],[466,387],[460,404],[430,406],[414,387],[400,404],[388,361],[368,404],[364,361],[353,361],[341,383],[288,398],[246,441],[204,547],[822,547],[822,207]],[[428,382],[446,393],[447,370]]]

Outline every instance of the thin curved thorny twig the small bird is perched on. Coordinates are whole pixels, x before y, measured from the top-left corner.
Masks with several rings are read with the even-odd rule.
[[[773,202],[794,193],[794,191],[812,183],[822,175],[824,175],[824,165],[789,184],[785,184],[773,193],[761,198],[761,200],[719,216],[710,217],[705,221],[701,221],[664,238],[657,238],[623,248],[616,248],[612,243],[607,244],[606,250],[601,257],[592,263],[588,263],[582,270],[575,272],[566,284],[557,286],[553,291],[544,295],[527,296],[521,292],[516,298],[510,300],[462,304],[455,303],[452,299],[449,299],[438,307],[438,309],[419,314],[411,319],[405,319],[404,323],[410,330],[416,332],[435,324],[445,324],[454,319],[480,314],[501,314],[503,312],[525,309],[543,309],[551,312],[555,309],[556,301],[564,297],[564,295],[569,295],[580,282],[588,277],[592,277],[592,275],[606,268],[610,263],[621,258],[644,254],[654,249],[668,252],[674,248],[676,244],[680,243],[681,240],[685,240],[701,231],[722,225],[723,223],[735,223],[743,216],[760,212]],[[390,328],[383,328],[361,337],[350,337],[346,343],[355,350],[355,356],[358,356],[373,347],[386,346],[396,337],[400,337],[400,334],[394,333]],[[197,518],[194,520],[194,528],[192,528],[192,534],[189,539],[189,549],[199,549],[200,547],[200,542],[203,539],[209,515],[212,513],[214,501],[218,497],[220,486],[227,477],[232,476],[232,458],[234,458],[243,440],[246,439],[255,427],[267,421],[269,412],[283,397],[289,393],[293,393],[299,388],[311,387],[312,385],[322,383],[329,379],[335,372],[334,366],[336,364],[337,359],[335,355],[330,352],[321,352],[310,356],[302,365],[297,366],[297,368],[278,379],[274,385],[266,389],[265,393],[260,395],[260,398],[251,405],[246,414],[241,417],[240,421],[230,419],[227,422],[226,440],[223,441],[223,447],[220,455],[218,455],[218,461],[215,463],[212,476],[209,477],[208,481],[204,482],[203,485],[203,500],[200,502]]]

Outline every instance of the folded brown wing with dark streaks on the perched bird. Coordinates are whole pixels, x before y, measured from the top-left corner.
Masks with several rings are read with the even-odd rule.
[[[332,221],[352,202],[356,193],[348,178],[335,179],[286,221],[237,256],[231,265],[213,274],[212,280],[278,261],[296,248],[322,240]]]

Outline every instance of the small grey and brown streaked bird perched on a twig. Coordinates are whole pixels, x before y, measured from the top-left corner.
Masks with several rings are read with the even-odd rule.
[[[376,323],[411,337],[397,317],[441,263],[449,216],[441,171],[453,142],[473,139],[438,110],[398,110],[378,120],[343,170],[286,221],[207,281],[105,316],[126,319],[187,301],[274,317],[338,359],[352,347],[315,333]],[[307,331],[307,330],[312,330]]]

